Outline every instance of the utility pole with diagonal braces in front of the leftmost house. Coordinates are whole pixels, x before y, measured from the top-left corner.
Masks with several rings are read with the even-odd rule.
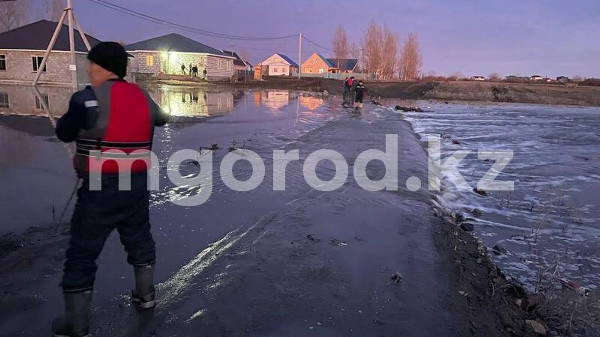
[[[46,62],[48,61],[48,56],[50,56],[50,52],[54,48],[54,44],[56,43],[56,38],[61,32],[62,25],[65,22],[65,17],[67,18],[67,23],[69,26],[69,51],[70,51],[70,64],[69,70],[71,71],[71,84],[73,85],[73,89],[77,90],[77,63],[75,58],[75,34],[74,34],[74,25],[77,26],[77,31],[79,31],[79,35],[83,40],[83,44],[85,44],[86,49],[90,49],[88,37],[85,36],[85,33],[81,29],[79,22],[75,19],[73,14],[73,7],[71,4],[72,0],[67,0],[67,7],[62,11],[61,19],[58,20],[58,25],[56,25],[56,29],[54,30],[54,34],[52,38],[50,38],[50,43],[46,49],[46,53],[44,54],[44,58],[41,60],[41,64],[38,65],[37,74],[35,75],[34,82],[32,83],[34,86],[37,85],[40,80],[40,76],[42,74],[42,70],[46,67]]]

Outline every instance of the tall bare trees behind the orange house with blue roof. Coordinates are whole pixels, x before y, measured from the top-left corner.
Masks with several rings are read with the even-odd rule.
[[[362,71],[375,74],[377,79],[414,80],[421,76],[423,58],[416,34],[408,34],[401,42],[388,25],[371,21],[360,43],[350,43],[346,29],[340,25],[331,45],[338,67],[341,60],[354,58],[359,60]]]

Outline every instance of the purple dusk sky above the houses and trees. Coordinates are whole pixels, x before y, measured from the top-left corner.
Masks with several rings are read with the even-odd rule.
[[[418,35],[423,74],[435,71],[437,76],[460,72],[464,77],[488,77],[491,73],[553,79],[600,77],[600,35],[592,34],[600,31],[600,2],[592,0],[569,4],[557,0],[506,0],[502,4],[457,0],[452,5],[442,0],[416,0],[410,4],[380,0],[377,5],[348,0],[344,2],[343,15],[338,4],[318,0],[221,0],[209,5],[191,0],[107,1],[224,34],[272,37],[302,32],[328,49],[338,25],[344,26],[350,41],[358,43],[368,23],[375,20],[388,25],[401,40],[409,32]],[[73,8],[83,30],[100,40],[128,44],[175,32],[217,49],[246,53],[252,64],[275,52],[298,62],[298,38],[224,40],[140,20],[90,1],[76,0]],[[354,21],[344,22],[347,17]],[[106,20],[110,20],[110,25]],[[307,41],[302,47],[302,61],[314,52],[333,56]]]

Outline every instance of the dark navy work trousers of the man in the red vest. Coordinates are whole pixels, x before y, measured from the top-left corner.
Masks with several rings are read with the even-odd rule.
[[[147,177],[146,172],[131,174],[131,191],[119,191],[117,174],[103,174],[101,191],[90,191],[89,177],[83,179],[77,190],[77,203],[71,218],[71,239],[61,282],[63,291],[83,291],[94,287],[98,269],[96,259],[115,228],[127,251],[129,264],[154,264]]]

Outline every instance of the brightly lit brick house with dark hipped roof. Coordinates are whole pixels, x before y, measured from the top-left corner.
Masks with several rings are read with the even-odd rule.
[[[190,65],[198,67],[200,77],[206,71],[207,80],[229,80],[234,73],[235,57],[175,33],[128,44],[125,50],[135,56],[139,74],[190,76]]]

